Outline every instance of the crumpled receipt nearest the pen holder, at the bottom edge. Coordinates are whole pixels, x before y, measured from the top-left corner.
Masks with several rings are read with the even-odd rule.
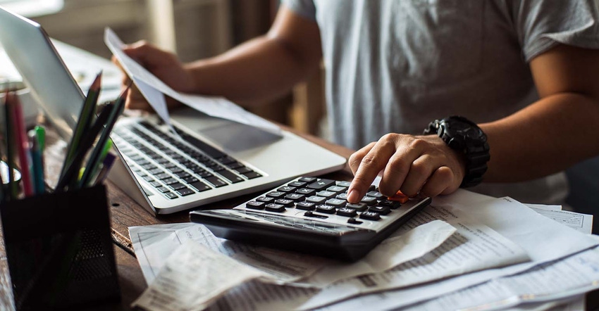
[[[264,277],[257,269],[198,243],[179,246],[132,307],[203,310],[237,284]]]

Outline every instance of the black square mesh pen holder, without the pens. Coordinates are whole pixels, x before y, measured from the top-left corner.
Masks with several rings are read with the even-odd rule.
[[[104,186],[0,205],[16,310],[118,301]]]

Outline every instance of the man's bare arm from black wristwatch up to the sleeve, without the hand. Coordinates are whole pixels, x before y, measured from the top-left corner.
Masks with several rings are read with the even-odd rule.
[[[543,177],[599,154],[599,51],[560,45],[531,70],[541,100],[480,125],[491,146],[488,182]]]

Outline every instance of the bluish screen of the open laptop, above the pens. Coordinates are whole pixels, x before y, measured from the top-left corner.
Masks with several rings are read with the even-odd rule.
[[[0,44],[47,120],[70,139],[84,95],[42,27],[0,7]]]

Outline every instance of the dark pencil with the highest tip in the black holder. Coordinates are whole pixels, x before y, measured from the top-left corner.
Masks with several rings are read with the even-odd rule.
[[[73,131],[73,137],[70,139],[70,143],[68,144],[68,149],[66,153],[66,163],[70,163],[73,160],[73,156],[77,153],[78,148],[81,143],[81,139],[85,134],[85,131],[89,129],[89,125],[92,124],[92,119],[94,114],[96,113],[96,105],[99,97],[99,91],[101,88],[101,77],[102,72],[100,71],[92,86],[89,87],[87,91],[87,96],[85,97],[85,101],[83,101],[83,107],[81,108],[81,112],[79,114],[79,119],[77,120],[77,125],[75,126],[75,130]],[[65,173],[66,167],[63,166],[61,170],[61,176]]]

